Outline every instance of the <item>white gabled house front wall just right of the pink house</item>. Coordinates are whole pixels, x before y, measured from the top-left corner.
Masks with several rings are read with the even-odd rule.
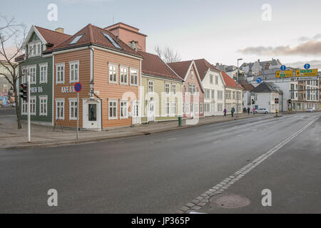
[[[210,76],[213,76],[213,83],[210,82]],[[215,83],[215,77],[218,77],[218,84]],[[225,86],[223,78],[220,73],[215,71],[208,71],[203,78],[202,86],[204,90],[210,90],[210,98],[205,98],[204,93],[204,115],[223,115],[223,110],[225,108]],[[214,98],[212,97],[212,91],[214,90]],[[218,91],[222,91],[223,98],[218,99]],[[222,110],[218,109],[218,105],[222,104]],[[206,106],[209,106],[209,111],[206,111]]]

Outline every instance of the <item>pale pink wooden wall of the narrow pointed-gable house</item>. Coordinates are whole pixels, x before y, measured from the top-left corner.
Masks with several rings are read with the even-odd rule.
[[[191,75],[191,72],[193,71],[193,78],[190,78],[190,75]],[[198,93],[198,95],[191,95],[188,91],[189,87],[189,83],[191,84],[194,84],[195,85],[195,90],[196,90],[196,93]],[[185,87],[184,87],[185,86]],[[185,93],[185,88],[186,88],[186,91],[187,93]],[[198,92],[197,92],[198,91]],[[204,116],[204,108],[203,108],[203,112],[201,113],[195,113],[195,105],[194,104],[198,104],[198,110],[199,109],[199,105],[201,104],[202,106],[204,106],[204,93],[203,93],[203,90],[201,89],[200,87],[200,82],[198,81],[198,76],[196,74],[196,71],[195,71],[195,68],[194,66],[192,66],[192,68],[190,68],[190,72],[188,72],[188,76],[183,84],[183,106],[184,106],[184,109],[185,109],[185,113],[183,113],[183,118],[191,118],[192,115],[190,113],[190,111],[187,113],[186,112],[186,103],[189,104],[189,108],[191,110],[191,103],[193,103],[193,113],[194,113],[194,117],[203,117]]]

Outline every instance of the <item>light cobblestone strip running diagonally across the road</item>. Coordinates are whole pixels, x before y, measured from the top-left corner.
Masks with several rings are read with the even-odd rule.
[[[268,150],[263,155],[260,155],[260,157],[253,160],[253,162],[250,162],[248,165],[245,165],[240,170],[233,173],[233,175],[230,175],[230,177],[225,178],[222,182],[218,183],[217,185],[210,188],[208,191],[204,192],[202,195],[196,197],[191,202],[188,202],[183,207],[180,207],[176,213],[182,214],[182,213],[190,213],[195,212],[202,207],[204,207],[206,204],[208,204],[210,197],[213,197],[214,195],[218,195],[225,190],[228,189],[231,185],[233,185],[235,182],[240,180],[242,177],[244,177],[248,172],[253,170],[256,166],[258,166],[261,162],[263,162],[267,157],[270,157],[275,152],[280,150],[284,145],[287,144],[287,142],[290,142],[293,138],[297,137],[302,131],[309,128],[312,123],[315,123],[317,119],[320,117],[315,118],[314,120],[310,121],[307,125],[305,125],[300,130],[297,130],[296,133],[292,134],[289,138],[283,140],[279,144],[277,144],[275,147],[273,147],[271,150]]]

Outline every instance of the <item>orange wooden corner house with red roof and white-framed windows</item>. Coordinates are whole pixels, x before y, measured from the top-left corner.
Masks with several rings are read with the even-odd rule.
[[[111,31],[91,24],[53,50],[54,123],[102,130],[140,123],[141,61]],[[79,93],[73,89],[82,84]]]

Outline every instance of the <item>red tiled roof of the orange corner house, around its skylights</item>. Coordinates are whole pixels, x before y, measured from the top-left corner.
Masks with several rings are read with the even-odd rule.
[[[103,33],[108,34],[113,38],[116,43],[118,43],[120,48],[116,48],[113,46],[113,43],[106,38],[106,36],[103,36]],[[83,36],[77,41],[77,43],[70,44],[71,41],[73,41],[74,38],[78,35]],[[120,39],[117,39],[113,33],[110,31],[107,31],[103,28],[98,28],[97,26],[93,26],[91,24],[88,24],[86,27],[82,28],[80,31],[78,31],[76,34],[71,36],[71,38],[68,38],[66,41],[63,41],[63,43],[60,43],[54,50],[60,50],[60,49],[68,49],[68,48],[76,48],[78,46],[86,46],[86,45],[91,45],[91,44],[96,44],[98,46],[103,46],[109,49],[113,49],[114,51],[119,51],[123,53],[128,53],[134,56],[139,56],[141,55],[138,53],[138,51],[134,51],[132,48],[130,48],[126,43],[121,41]]]

